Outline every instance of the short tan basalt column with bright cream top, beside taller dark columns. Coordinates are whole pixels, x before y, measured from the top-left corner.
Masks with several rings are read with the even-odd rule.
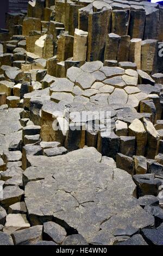
[[[75,29],[73,43],[73,60],[85,61],[87,52],[87,32]]]

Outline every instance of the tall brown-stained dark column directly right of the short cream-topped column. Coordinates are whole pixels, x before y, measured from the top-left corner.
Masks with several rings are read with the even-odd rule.
[[[89,15],[87,61],[104,60],[105,40],[109,33],[111,7]]]

